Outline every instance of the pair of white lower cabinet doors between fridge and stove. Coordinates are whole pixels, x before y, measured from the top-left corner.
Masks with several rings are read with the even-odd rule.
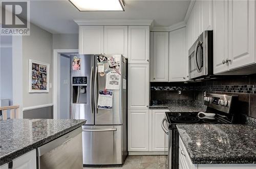
[[[169,110],[128,110],[128,151],[162,155],[168,149],[168,136],[161,128]]]

